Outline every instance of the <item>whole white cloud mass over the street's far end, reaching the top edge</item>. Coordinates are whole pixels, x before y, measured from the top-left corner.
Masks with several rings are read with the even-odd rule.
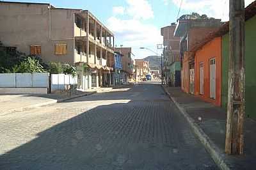
[[[132,47],[132,53],[136,55],[134,58],[154,55],[152,52],[140,49],[140,47],[148,47],[156,50],[157,43],[163,41],[158,27],[144,23],[144,20],[154,17],[151,5],[146,0],[126,2],[124,16],[113,15],[107,21],[107,26],[115,33],[116,45]]]

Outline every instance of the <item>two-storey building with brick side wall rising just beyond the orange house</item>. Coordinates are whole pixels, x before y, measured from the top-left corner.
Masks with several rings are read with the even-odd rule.
[[[180,37],[181,88],[186,93],[195,94],[195,55],[193,47],[204,40],[211,31],[221,26],[219,19],[179,20],[174,36]]]

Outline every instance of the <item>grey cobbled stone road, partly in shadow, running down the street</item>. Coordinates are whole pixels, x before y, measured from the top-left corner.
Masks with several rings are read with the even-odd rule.
[[[217,169],[159,84],[0,116],[0,169]]]

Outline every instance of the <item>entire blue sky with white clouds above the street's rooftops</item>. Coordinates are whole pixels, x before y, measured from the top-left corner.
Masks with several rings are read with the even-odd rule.
[[[244,1],[247,6],[254,0]],[[155,55],[140,47],[147,47],[161,54],[161,50],[157,49],[157,44],[163,43],[161,27],[176,22],[177,17],[197,12],[227,21],[229,4],[228,0],[21,0],[21,2],[51,3],[57,8],[89,10],[115,34],[116,47],[120,45],[132,47],[134,59]]]

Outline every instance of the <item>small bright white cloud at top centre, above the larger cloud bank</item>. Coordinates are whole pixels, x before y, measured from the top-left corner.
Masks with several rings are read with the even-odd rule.
[[[152,19],[154,18],[154,12],[151,4],[146,0],[127,0],[129,7],[127,8],[127,14],[134,19]]]

